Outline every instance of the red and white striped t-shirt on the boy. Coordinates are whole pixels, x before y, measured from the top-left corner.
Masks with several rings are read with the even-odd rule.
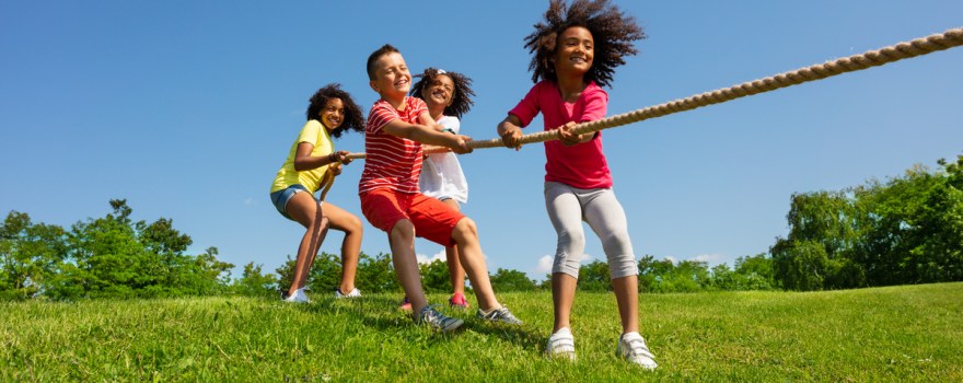
[[[401,119],[420,124],[418,116],[428,112],[421,98],[405,97],[405,109],[395,109],[379,100],[368,113],[364,127],[364,171],[358,184],[358,194],[374,189],[392,189],[399,193],[418,193],[418,175],[421,174],[421,143],[395,137],[382,130],[388,123]]]

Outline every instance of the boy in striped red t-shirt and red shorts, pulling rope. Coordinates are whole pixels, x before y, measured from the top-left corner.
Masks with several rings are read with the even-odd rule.
[[[415,258],[417,234],[442,246],[459,247],[460,260],[478,299],[479,317],[521,324],[495,298],[475,222],[438,199],[418,193],[421,143],[468,153],[471,138],[436,130],[425,102],[407,96],[411,74],[395,47],[384,45],[368,57],[368,78],[371,89],[381,98],[371,107],[364,129],[368,158],[358,185],[361,212],[372,225],[388,234],[392,262],[411,302],[415,322],[442,332],[462,325],[462,320],[439,313],[425,300]]]

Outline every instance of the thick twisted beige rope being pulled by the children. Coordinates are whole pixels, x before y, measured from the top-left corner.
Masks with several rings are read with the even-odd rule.
[[[661,105],[649,106],[647,108],[637,109],[603,119],[588,121],[577,125],[572,129],[572,134],[581,135],[594,132],[602,129],[614,128],[617,126],[628,125],[642,121],[650,118],[662,117],[673,113],[692,111],[712,104],[724,103],[747,95],[775,91],[777,89],[788,88],[803,82],[822,80],[828,77],[863,70],[872,67],[879,67],[884,63],[898,61],[905,58],[923,56],[939,50],[944,50],[963,45],[963,28],[948,30],[941,34],[935,34],[927,37],[914,39],[908,43],[900,43],[885,48],[870,50],[861,55],[854,55],[835,61],[814,65],[811,67],[797,69],[791,72],[785,72],[761,80],[743,82],[738,85],[729,86],[722,90],[716,90],[697,94],[687,98],[671,101]],[[521,143],[534,143],[558,139],[558,132],[555,130],[539,131],[531,135],[522,136]],[[473,149],[481,148],[504,148],[504,143],[500,138],[484,141],[471,141],[468,147]],[[442,150],[443,151],[443,150]],[[351,153],[351,159],[363,159],[364,153]]]

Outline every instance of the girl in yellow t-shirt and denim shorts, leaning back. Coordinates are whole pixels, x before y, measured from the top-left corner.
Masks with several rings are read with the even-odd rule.
[[[326,177],[340,174],[341,164],[351,162],[347,158],[349,153],[334,151],[332,142],[332,137],[338,138],[346,130],[364,131],[361,108],[348,92],[340,89],[340,84],[328,84],[311,97],[308,123],[301,128],[288,159],[271,184],[271,202],[278,212],[308,229],[298,247],[294,280],[287,291],[287,302],[310,302],[304,293],[304,282],[328,227],[345,232],[341,283],[335,290],[335,297],[361,297],[361,292],[355,288],[355,271],[361,251],[361,220],[330,202],[323,204],[322,213],[322,201],[314,198],[314,193],[324,185]]]

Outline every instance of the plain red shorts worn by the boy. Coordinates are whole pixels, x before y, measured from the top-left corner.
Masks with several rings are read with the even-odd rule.
[[[375,189],[361,195],[361,213],[371,225],[391,233],[401,220],[415,225],[415,235],[442,246],[454,246],[451,232],[465,214],[420,193]]]

